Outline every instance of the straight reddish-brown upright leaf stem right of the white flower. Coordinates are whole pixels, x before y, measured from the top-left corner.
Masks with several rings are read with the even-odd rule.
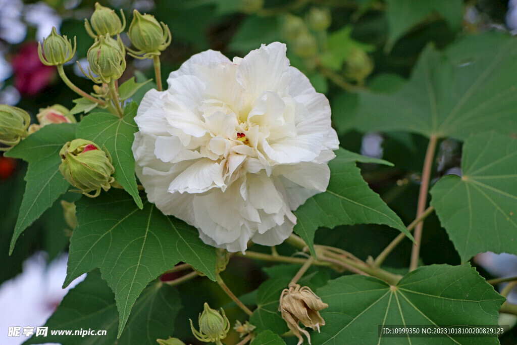
[[[427,152],[425,152],[425,159],[423,162],[422,179],[420,184],[420,191],[418,192],[417,216],[415,217],[416,219],[422,216],[424,213],[425,204],[427,204],[427,193],[431,179],[431,168],[433,167],[433,158],[437,142],[438,136],[436,136],[436,134],[432,134],[432,136],[429,138],[429,145],[427,146]],[[413,250],[411,252],[409,272],[414,271],[414,269],[418,267],[420,244],[422,242],[422,229],[423,221],[420,221],[416,224],[415,227],[415,244],[413,245]]]

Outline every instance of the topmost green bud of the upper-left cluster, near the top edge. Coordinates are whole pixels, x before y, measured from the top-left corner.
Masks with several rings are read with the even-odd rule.
[[[122,16],[122,22],[120,22],[120,18],[118,18],[114,10],[95,3],[95,11],[92,14],[92,18],[90,18],[91,25],[87,19],[84,20],[86,32],[93,38],[97,38],[97,36],[116,36],[120,34],[126,27],[126,17],[122,10],[120,10],[120,15]],[[93,31],[95,31],[97,35],[94,34]]]

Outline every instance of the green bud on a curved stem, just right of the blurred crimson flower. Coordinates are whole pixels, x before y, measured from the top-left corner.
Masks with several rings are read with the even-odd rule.
[[[72,40],[69,40],[66,36],[59,36],[56,28],[52,27],[50,36],[43,39],[43,49],[41,49],[41,43],[38,42],[38,56],[43,65],[63,65],[75,55],[76,46],[75,37],[73,38],[72,48]]]

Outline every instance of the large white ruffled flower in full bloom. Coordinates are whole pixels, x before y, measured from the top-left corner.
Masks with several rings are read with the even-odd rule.
[[[291,211],[327,188],[339,145],[329,103],[285,51],[275,42],[233,62],[196,54],[138,109],[133,154],[149,201],[209,245],[278,245],[296,224]]]

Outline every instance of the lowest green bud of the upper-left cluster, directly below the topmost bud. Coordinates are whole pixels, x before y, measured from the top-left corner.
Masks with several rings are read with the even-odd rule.
[[[120,78],[126,69],[126,50],[120,37],[114,40],[110,36],[100,36],[88,49],[86,58],[89,70],[99,76],[97,79],[90,73],[90,79],[99,84]]]

